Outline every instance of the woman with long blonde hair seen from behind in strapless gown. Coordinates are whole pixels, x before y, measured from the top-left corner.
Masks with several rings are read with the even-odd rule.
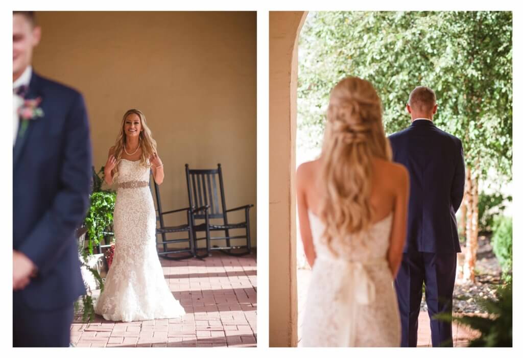
[[[319,159],[300,165],[297,201],[312,267],[303,347],[399,347],[394,276],[402,259],[407,170],[391,161],[381,101],[366,80],[331,91]]]

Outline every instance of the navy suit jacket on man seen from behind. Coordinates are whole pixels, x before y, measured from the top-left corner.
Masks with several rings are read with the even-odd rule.
[[[428,120],[414,121],[389,140],[394,161],[407,167],[411,179],[404,252],[461,252],[456,223],[465,183],[461,141]]]

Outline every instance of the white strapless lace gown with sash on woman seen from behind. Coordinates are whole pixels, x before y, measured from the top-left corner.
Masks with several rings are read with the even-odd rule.
[[[304,310],[301,347],[399,347],[400,316],[386,260],[392,214],[345,244],[338,257],[321,241],[324,224],[309,211],[316,260]]]

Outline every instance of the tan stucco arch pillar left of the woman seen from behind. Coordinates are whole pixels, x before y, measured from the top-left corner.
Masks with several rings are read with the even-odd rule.
[[[295,137],[304,11],[269,13],[269,346],[297,344]]]

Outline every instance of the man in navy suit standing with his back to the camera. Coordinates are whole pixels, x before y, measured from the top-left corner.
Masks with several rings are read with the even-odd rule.
[[[456,212],[463,199],[465,166],[461,141],[433,123],[436,94],[414,88],[407,111],[412,124],[389,139],[393,159],[411,178],[407,239],[394,281],[401,315],[401,346],[416,347],[425,283],[433,347],[452,346],[452,325],[433,318],[452,312],[456,253],[461,252]]]

